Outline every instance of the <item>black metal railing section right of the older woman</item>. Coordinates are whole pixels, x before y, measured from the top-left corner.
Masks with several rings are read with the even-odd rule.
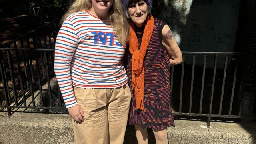
[[[183,63],[172,66],[171,94],[175,115],[212,118],[255,118],[242,114],[247,54],[182,52]],[[174,99],[174,100],[173,100]],[[250,102],[252,111],[252,101]]]

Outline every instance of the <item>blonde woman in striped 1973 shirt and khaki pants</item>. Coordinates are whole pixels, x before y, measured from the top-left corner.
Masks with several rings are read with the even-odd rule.
[[[130,89],[122,64],[128,23],[121,0],[75,0],[62,18],[54,70],[76,144],[122,144]]]

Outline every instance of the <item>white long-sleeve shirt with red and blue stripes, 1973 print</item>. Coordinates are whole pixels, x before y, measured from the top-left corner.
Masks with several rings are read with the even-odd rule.
[[[58,32],[54,60],[66,108],[77,104],[73,86],[116,88],[126,84],[124,51],[107,21],[86,11],[70,15]]]

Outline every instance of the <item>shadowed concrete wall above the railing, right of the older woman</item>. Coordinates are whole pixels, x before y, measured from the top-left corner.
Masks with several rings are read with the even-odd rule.
[[[240,0],[155,0],[153,6],[182,51],[233,52]]]

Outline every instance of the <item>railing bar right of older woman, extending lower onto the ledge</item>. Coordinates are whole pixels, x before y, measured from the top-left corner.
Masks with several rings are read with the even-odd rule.
[[[214,57],[214,71],[213,71],[213,78],[212,78],[212,90],[211,90],[211,98],[210,98],[210,106],[209,106],[209,117],[207,120],[207,126],[210,126],[210,121],[212,118],[212,101],[213,101],[213,94],[214,94],[214,84],[215,84],[215,76],[216,76],[216,67],[217,67],[217,59],[218,55],[215,54]]]

